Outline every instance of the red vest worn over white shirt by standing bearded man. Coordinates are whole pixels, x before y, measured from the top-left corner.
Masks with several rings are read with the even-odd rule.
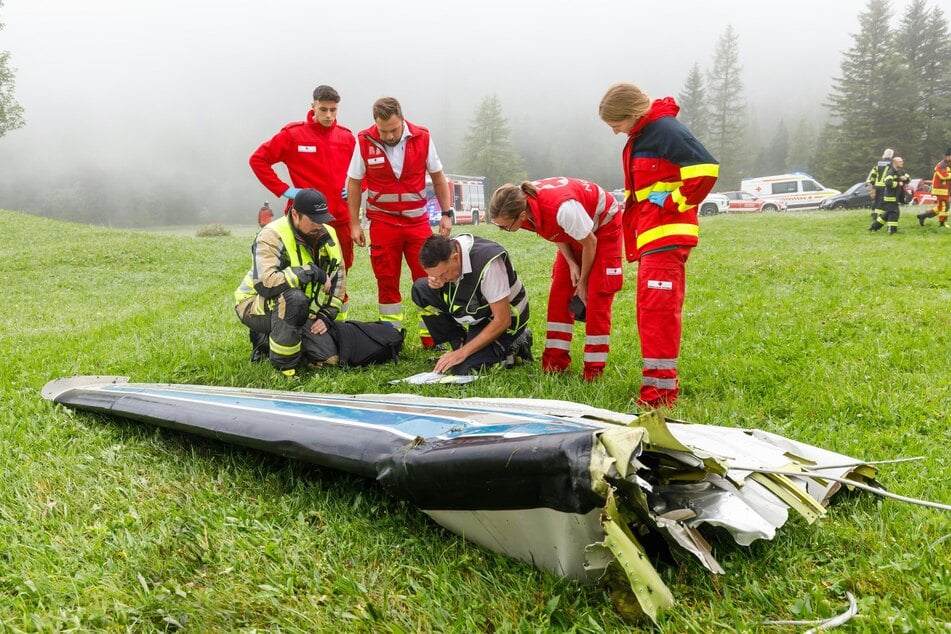
[[[403,120],[409,129],[403,171],[396,178],[375,125],[357,133],[360,155],[367,166],[364,179],[367,190],[367,217],[400,215],[426,217],[426,159],[429,156],[429,130]],[[385,215],[384,215],[385,214]]]

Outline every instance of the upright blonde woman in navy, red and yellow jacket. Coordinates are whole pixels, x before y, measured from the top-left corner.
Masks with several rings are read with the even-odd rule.
[[[637,267],[637,332],[643,370],[638,405],[672,407],[686,290],[686,264],[697,245],[697,205],[720,166],[677,121],[673,97],[653,102],[636,85],[618,83],[601,98],[599,115],[626,134],[624,249]]]

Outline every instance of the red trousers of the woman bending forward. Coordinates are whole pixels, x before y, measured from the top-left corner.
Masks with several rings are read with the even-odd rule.
[[[621,269],[621,224],[612,222],[602,227],[595,236],[595,250],[591,274],[588,277],[584,340],[584,378],[588,381],[604,373],[611,348],[611,306],[614,295],[621,290],[624,274]],[[573,249],[575,261],[581,263],[581,245]],[[558,252],[552,268],[551,289],[548,291],[548,325],[542,370],[566,372],[571,366],[571,338],[575,319],[568,305],[575,294],[571,285],[571,270],[565,256]]]

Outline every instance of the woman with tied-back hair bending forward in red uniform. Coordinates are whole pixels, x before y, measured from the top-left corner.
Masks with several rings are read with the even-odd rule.
[[[489,217],[500,229],[534,231],[558,246],[548,292],[544,372],[568,371],[577,320],[585,321],[585,380],[604,373],[611,347],[611,305],[624,280],[618,212],[614,196],[577,178],[506,184],[492,194]]]

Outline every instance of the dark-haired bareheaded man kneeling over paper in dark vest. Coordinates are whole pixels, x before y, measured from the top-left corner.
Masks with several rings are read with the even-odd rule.
[[[428,277],[413,284],[413,302],[434,343],[452,348],[434,372],[470,374],[532,359],[528,296],[502,245],[469,234],[432,235],[419,262]]]

